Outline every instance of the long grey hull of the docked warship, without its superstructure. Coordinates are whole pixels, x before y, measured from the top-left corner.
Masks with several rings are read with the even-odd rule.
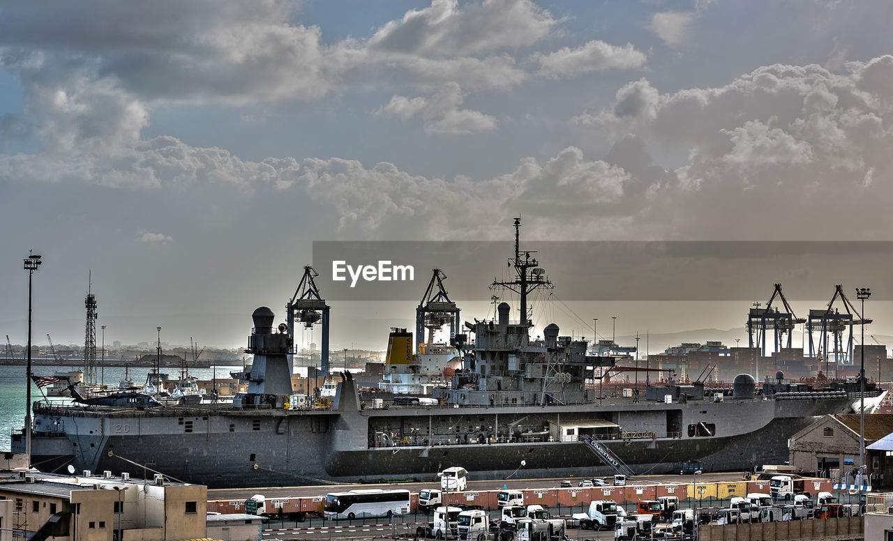
[[[650,420],[679,414],[688,421],[709,412],[719,427],[714,437],[655,435],[609,440],[605,445],[637,474],[670,472],[673,462],[686,460],[705,462],[709,470],[748,470],[756,464],[785,462],[789,437],[815,416],[852,412],[853,404],[852,398],[726,404],[616,400],[602,406],[467,407],[458,413],[438,407],[356,412],[239,412],[202,406],[169,407],[165,412],[38,408],[39,426],[56,424],[51,433],[33,437],[32,450],[41,470],[59,470],[71,463],[79,470],[128,471],[135,477],[158,471],[208,487],[431,480],[451,465],[497,478],[606,475],[613,470],[578,441],[376,446],[374,434],[378,425],[439,423],[452,428],[465,419],[484,423],[495,419],[499,425],[501,419],[544,422],[594,415],[619,420],[630,430],[653,429]],[[13,449],[22,444],[21,437],[13,438]],[[522,460],[525,465],[518,470]]]

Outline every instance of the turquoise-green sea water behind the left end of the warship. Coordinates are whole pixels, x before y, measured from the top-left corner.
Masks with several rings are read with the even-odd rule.
[[[31,371],[36,376],[52,376],[54,372],[79,370],[69,366],[34,366]],[[110,387],[118,387],[118,382],[124,379],[123,366],[106,366],[104,383]],[[130,379],[134,385],[146,383],[146,375],[152,369],[149,367],[131,367],[128,370]],[[230,379],[230,370],[242,370],[241,366],[218,366],[213,368],[189,369],[189,375],[196,379],[213,379],[216,370],[217,378]],[[168,374],[170,379],[176,381],[179,377],[179,368],[162,368],[163,374]],[[96,370],[96,378],[101,379],[102,370]],[[172,382],[167,387],[171,387]],[[31,401],[37,402],[44,398],[43,389],[31,385]],[[24,366],[0,366],[0,451],[10,450],[10,435],[13,431],[21,432],[25,425],[25,367]],[[52,398],[52,400],[63,400]]]

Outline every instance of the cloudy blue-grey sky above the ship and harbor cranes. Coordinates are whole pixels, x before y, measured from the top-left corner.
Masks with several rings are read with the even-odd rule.
[[[109,343],[236,347],[314,241],[510,240],[519,215],[537,241],[888,241],[891,23],[880,0],[4,2],[0,329],[26,341],[30,249],[36,344],[83,343],[90,288]],[[890,334],[889,277],[841,257],[786,282],[827,288],[797,311],[870,286]],[[741,327],[772,294],[574,304],[587,270],[544,265],[577,336]],[[465,319],[497,272],[452,292]],[[383,349],[414,304],[333,301],[332,345]]]

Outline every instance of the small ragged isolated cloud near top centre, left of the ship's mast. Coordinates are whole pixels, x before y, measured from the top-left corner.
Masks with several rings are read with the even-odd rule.
[[[376,109],[375,113],[402,120],[421,115],[426,133],[458,134],[496,128],[497,120],[492,116],[479,111],[459,109],[463,100],[462,88],[452,82],[430,98],[391,96],[388,104]]]

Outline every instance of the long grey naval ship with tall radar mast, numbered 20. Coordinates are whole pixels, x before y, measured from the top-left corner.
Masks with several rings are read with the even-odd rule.
[[[208,487],[430,480],[449,466],[488,479],[665,473],[689,460],[708,470],[746,470],[784,463],[791,435],[817,416],[854,412],[863,385],[866,407],[879,400],[865,381],[818,388],[783,374],[759,389],[741,374],[730,394],[695,381],[649,386],[644,396],[599,395],[593,375],[613,359],[588,354],[586,341],[562,336],[555,324],[542,339],[530,337],[527,295],[552,285],[520,249],[520,225],[516,219],[514,275],[493,284],[520,296],[519,318],[511,320],[511,306],[502,303],[492,320],[455,329],[450,345],[462,368],[448,387],[434,389],[437,404],[382,407],[380,399],[361,399],[349,372],[330,403],[300,399],[289,373],[293,314],[274,329],[274,313],[261,307],[246,349],[255,359],[243,374],[247,391],[231,404],[37,402],[32,463],[45,471],[71,464],[154,472]],[[318,295],[310,302],[328,310]],[[13,434],[13,451],[24,452],[25,441],[24,429]]]

